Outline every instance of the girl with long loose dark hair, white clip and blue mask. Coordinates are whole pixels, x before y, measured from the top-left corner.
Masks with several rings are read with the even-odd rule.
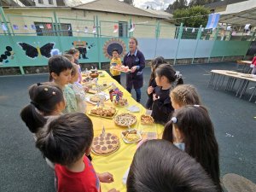
[[[187,105],[177,109],[166,124],[163,139],[195,158],[222,191],[219,180],[218,143],[207,109]]]

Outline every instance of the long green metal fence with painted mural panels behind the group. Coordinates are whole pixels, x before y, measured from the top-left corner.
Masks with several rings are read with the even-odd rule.
[[[140,22],[135,30],[130,31],[131,18],[119,22],[98,18],[93,20],[57,16],[4,15],[0,8],[0,67],[44,66],[48,58],[42,55],[42,48],[51,46],[61,52],[79,44],[82,46],[81,62],[96,62],[101,68],[102,62],[110,59],[109,47],[121,46],[123,54],[128,51],[128,39],[134,36],[140,41],[146,59],[156,55],[164,55],[166,59],[207,58],[224,56],[245,56],[251,41],[255,40],[255,32],[233,32],[222,28],[204,29],[188,26],[166,25],[166,22]],[[26,20],[26,21],[25,21]],[[17,25],[19,23],[19,25]],[[6,30],[3,30],[3,25]],[[114,26],[119,30],[114,31]],[[141,44],[142,43],[142,44]],[[27,44],[26,48],[20,44]],[[28,56],[29,49],[38,54]],[[12,49],[7,51],[7,49]],[[8,53],[7,53],[7,52]],[[38,52],[37,52],[38,51]],[[47,50],[49,51],[49,50]],[[10,54],[11,53],[11,54]],[[90,56],[88,56],[90,55]]]

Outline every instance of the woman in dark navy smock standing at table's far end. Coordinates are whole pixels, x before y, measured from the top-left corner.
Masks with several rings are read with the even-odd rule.
[[[130,38],[130,51],[125,55],[123,64],[131,69],[131,73],[126,73],[126,90],[131,93],[131,89],[136,91],[136,100],[141,102],[141,88],[143,87],[143,68],[145,67],[145,57],[137,49],[137,38]]]

